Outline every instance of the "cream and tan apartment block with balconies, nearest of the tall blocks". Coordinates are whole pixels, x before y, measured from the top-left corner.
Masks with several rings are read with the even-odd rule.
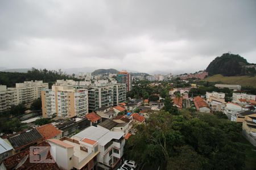
[[[42,91],[43,117],[75,117],[88,113],[88,91],[73,86],[52,86]]]

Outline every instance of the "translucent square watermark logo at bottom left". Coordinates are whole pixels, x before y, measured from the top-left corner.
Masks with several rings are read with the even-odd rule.
[[[55,163],[52,153],[56,153],[54,146],[31,146],[30,147],[30,163]]]

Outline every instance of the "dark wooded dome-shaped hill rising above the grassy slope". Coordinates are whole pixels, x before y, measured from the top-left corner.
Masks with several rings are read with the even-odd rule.
[[[225,53],[216,57],[208,65],[206,71],[209,75],[221,74],[224,76],[254,75],[255,65],[250,64],[238,54]]]

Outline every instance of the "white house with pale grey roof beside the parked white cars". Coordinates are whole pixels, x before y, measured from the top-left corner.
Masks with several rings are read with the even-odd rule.
[[[90,126],[72,137],[77,141],[88,138],[98,142],[97,167],[114,169],[123,156],[125,134]]]

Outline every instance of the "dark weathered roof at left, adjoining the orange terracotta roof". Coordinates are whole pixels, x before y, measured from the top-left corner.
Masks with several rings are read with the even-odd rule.
[[[38,145],[43,142],[43,136],[35,128],[31,128],[27,131],[20,131],[4,139],[13,147],[13,154],[16,154],[30,146]]]

